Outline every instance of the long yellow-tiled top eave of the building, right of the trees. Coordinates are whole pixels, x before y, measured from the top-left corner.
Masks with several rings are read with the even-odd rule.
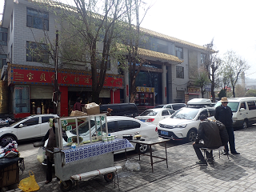
[[[206,47],[204,46],[198,46],[197,44],[194,44],[194,43],[191,43],[191,42],[186,42],[186,41],[183,41],[181,39],[178,39],[178,38],[173,38],[173,37],[170,37],[166,34],[160,34],[158,32],[155,32],[153,30],[148,30],[148,29],[145,29],[143,27],[140,27],[140,30],[145,33],[145,34],[150,34],[151,36],[155,37],[155,38],[162,38],[166,41],[170,41],[170,42],[178,42],[178,43],[181,43],[183,45],[186,45],[186,46],[192,46],[194,48],[198,48],[200,50],[206,50]]]

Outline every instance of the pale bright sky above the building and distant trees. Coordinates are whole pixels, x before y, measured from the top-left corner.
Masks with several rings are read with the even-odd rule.
[[[67,1],[67,0],[66,0]],[[71,1],[71,0],[70,0]],[[142,27],[203,46],[214,38],[219,56],[233,50],[246,60],[246,77],[256,79],[254,0],[145,0],[153,6]],[[0,0],[2,14],[4,1]],[[2,15],[0,14],[0,20]],[[255,80],[256,82],[256,80]]]

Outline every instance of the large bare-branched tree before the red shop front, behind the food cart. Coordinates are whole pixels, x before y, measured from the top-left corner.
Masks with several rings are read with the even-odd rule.
[[[79,69],[90,71],[92,102],[99,102],[106,71],[110,70],[110,58],[118,58],[115,50],[122,30],[127,27],[127,12],[134,17],[138,2],[141,0],[72,0],[69,4],[63,4],[62,0],[54,3],[42,0],[39,3],[56,15],[60,66],[74,69],[77,65]],[[55,43],[48,41],[48,34],[45,36],[44,41],[50,44],[55,55]]]

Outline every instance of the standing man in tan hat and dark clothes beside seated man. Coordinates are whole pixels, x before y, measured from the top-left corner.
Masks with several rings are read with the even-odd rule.
[[[216,118],[216,120],[222,122],[226,126],[226,131],[227,131],[227,134],[229,135],[229,144],[230,144],[231,154],[240,154],[235,150],[235,145],[234,145],[232,110],[229,106],[227,106],[228,100],[226,97],[223,97],[221,102],[222,102],[222,105],[217,106],[215,109],[214,118]],[[229,146],[226,143],[224,155],[227,155],[227,154],[229,154]]]

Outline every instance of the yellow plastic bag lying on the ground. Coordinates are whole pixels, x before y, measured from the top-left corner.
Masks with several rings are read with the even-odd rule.
[[[38,183],[35,181],[34,173],[29,171],[30,177],[23,178],[22,181],[19,182],[18,188],[27,192],[27,191],[35,191],[39,190]]]

